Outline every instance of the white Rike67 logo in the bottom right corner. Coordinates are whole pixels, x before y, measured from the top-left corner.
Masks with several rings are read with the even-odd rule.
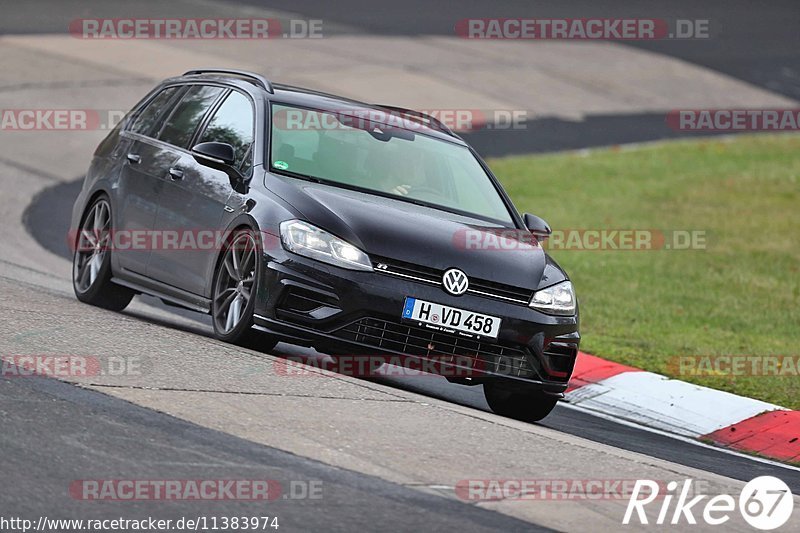
[[[784,525],[794,509],[794,498],[789,486],[772,476],[760,476],[748,482],[739,494],[738,502],[728,494],[710,498],[705,494],[691,497],[691,479],[683,482],[680,492],[677,481],[667,483],[666,494],[660,494],[662,487],[663,484],[649,479],[637,480],[622,523],[630,524],[631,519],[638,519],[641,524],[650,523],[645,507],[657,500],[661,505],[655,523],[659,525],[697,524],[698,518],[712,526],[722,525],[734,515],[738,503],[739,513],[750,526],[769,531]],[[709,499],[701,504],[706,498]]]

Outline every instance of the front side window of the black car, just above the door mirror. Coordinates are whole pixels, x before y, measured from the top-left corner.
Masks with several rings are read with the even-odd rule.
[[[253,128],[255,119],[250,100],[233,91],[217,109],[199,142],[223,142],[233,146],[234,166],[247,174],[253,166]]]

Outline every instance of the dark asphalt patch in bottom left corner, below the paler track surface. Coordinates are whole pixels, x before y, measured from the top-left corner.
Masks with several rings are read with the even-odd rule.
[[[378,478],[332,468],[291,453],[231,438],[229,435],[136,407],[122,400],[85,391],[57,381],[32,378],[7,384],[0,389],[3,412],[3,456],[6,466],[3,481],[14,487],[4,495],[6,514],[33,516],[53,514],[80,516],[85,503],[73,500],[54,508],[60,500],[59,486],[68,486],[75,472],[123,467],[126,475],[137,479],[159,477],[168,470],[177,479],[191,479],[197,469],[224,472],[235,479],[290,479],[295,482],[322,482],[335,496],[292,500],[291,489],[284,487],[281,497],[270,503],[269,513],[280,517],[299,531],[352,531],[354,528],[392,528],[418,531],[437,517],[437,527],[464,531],[541,530],[511,517],[459,502],[434,497],[388,483]],[[20,405],[38,405],[36,424]],[[46,430],[44,429],[46,428]],[[105,450],[87,455],[84,448]],[[53,461],[54,457],[69,460]],[[55,481],[43,490],[31,480]],[[296,484],[295,486],[303,486]],[[313,485],[312,485],[313,486]],[[302,490],[302,489],[300,489]],[[295,489],[299,494],[299,490]],[[92,512],[92,518],[157,515],[178,520],[182,516],[260,516],[263,502],[230,504],[186,502],[176,508],[161,502],[139,503],[133,507],[117,503]],[[369,510],[368,513],[364,512]],[[12,513],[13,511],[13,513]]]

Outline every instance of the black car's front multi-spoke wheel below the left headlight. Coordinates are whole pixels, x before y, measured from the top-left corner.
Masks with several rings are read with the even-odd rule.
[[[252,329],[263,263],[259,250],[249,229],[237,231],[225,245],[214,273],[211,322],[214,336],[221,341],[270,351],[278,340]]]

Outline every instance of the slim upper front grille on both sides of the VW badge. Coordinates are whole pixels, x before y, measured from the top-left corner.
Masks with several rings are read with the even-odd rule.
[[[406,263],[397,259],[376,258],[373,267],[376,272],[400,278],[410,279],[431,285],[441,285],[443,270]],[[533,291],[494,281],[470,277],[468,293],[495,300],[508,301],[520,305],[528,305]]]

